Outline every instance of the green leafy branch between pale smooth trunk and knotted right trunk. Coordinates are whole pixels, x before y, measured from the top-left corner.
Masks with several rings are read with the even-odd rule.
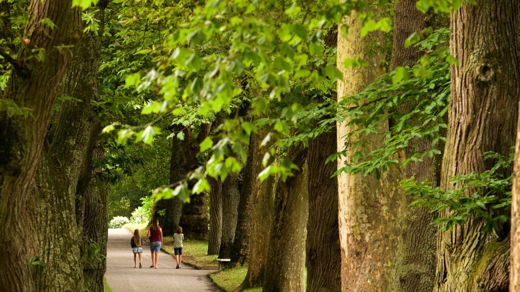
[[[344,98],[337,105],[336,117],[348,121],[355,130],[347,135],[345,149],[355,149],[352,161],[336,172],[379,176],[393,165],[406,166],[422,161],[425,156],[440,154],[444,145],[446,113],[450,92],[448,30],[432,32],[417,45],[425,51],[412,68],[397,68],[380,76],[357,95]],[[386,121],[391,127],[386,131]],[[384,132],[383,146],[367,151],[364,137]],[[431,148],[422,151],[414,147],[414,139],[431,141]],[[411,147],[410,147],[411,146]],[[411,148],[411,149],[410,149]],[[396,154],[405,149],[411,153],[402,161]],[[342,151],[336,155],[345,155]],[[336,155],[328,161],[336,159]]]

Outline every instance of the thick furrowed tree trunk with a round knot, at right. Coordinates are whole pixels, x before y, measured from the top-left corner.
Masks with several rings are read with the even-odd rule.
[[[484,0],[451,15],[451,54],[460,64],[451,67],[440,180],[444,189],[457,187],[449,181],[453,176],[490,169],[493,162],[484,161],[485,152],[509,155],[514,145],[520,96],[518,6],[513,1]],[[439,233],[434,291],[508,290],[509,230],[498,227],[486,233],[484,224],[469,220]]]

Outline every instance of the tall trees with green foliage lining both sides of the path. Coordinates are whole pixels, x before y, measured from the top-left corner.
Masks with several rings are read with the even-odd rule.
[[[0,2],[2,290],[102,291],[112,172],[164,133],[153,214],[239,289],[519,288],[515,1],[79,4]]]

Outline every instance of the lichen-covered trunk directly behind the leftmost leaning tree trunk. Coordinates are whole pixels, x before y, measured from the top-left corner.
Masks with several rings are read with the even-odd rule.
[[[102,31],[105,7],[97,8]],[[92,152],[88,151],[92,151],[99,133],[97,113],[91,102],[99,97],[100,49],[100,34],[88,33],[77,45],[63,76],[60,94],[81,101],[62,104],[50,148],[42,153],[36,173],[30,210],[36,237],[34,246],[40,260],[46,263],[45,269],[35,271],[39,291],[83,290],[84,202],[82,194],[77,196],[76,191],[84,165],[90,162]],[[105,220],[101,219],[103,223]],[[105,224],[96,226],[101,230],[104,227]]]

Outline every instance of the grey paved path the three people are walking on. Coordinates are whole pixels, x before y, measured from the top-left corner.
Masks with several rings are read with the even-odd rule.
[[[183,264],[181,269],[175,269],[175,258],[162,250],[159,254],[159,269],[148,268],[152,261],[150,248],[146,243],[142,253],[142,269],[135,269],[134,254],[130,247],[131,237],[132,233],[127,229],[108,230],[105,276],[113,292],[221,291],[207,276],[208,271],[197,270],[187,264]],[[139,262],[137,266],[139,267]]]

